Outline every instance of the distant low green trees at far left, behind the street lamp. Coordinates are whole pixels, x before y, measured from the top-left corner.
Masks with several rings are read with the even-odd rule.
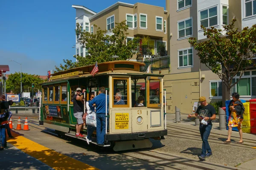
[[[22,73],[22,90],[32,92],[31,85],[35,83],[34,89],[40,89],[40,83],[44,82],[38,75],[32,75],[27,73]],[[14,74],[10,74],[8,79],[6,80],[6,92],[14,94],[20,93],[20,73],[15,72]]]

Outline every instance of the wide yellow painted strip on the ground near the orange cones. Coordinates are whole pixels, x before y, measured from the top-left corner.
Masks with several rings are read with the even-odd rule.
[[[17,133],[12,133],[12,136],[14,136],[14,138],[7,138],[7,142],[55,170],[99,170],[96,167],[90,166],[84,162],[78,161],[26,139]]]

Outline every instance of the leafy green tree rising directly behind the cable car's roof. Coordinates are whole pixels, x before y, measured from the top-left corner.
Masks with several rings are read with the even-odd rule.
[[[60,68],[55,66],[56,71],[93,65],[96,61],[100,63],[116,60],[116,58],[112,58],[113,55],[119,56],[118,60],[126,60],[137,54],[139,38],[135,37],[126,43],[126,37],[129,34],[125,21],[115,23],[115,28],[111,31],[102,30],[97,25],[94,25],[94,30],[97,30],[96,34],[91,34],[85,30],[82,31],[80,24],[76,24],[76,35],[79,36],[79,43],[87,49],[89,55],[86,57],[74,56],[77,62],[64,60],[65,65],[60,65]]]

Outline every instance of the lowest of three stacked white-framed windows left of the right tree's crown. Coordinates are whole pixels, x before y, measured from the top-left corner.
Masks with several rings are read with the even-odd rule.
[[[179,50],[179,67],[186,67],[193,65],[193,50],[192,48]]]

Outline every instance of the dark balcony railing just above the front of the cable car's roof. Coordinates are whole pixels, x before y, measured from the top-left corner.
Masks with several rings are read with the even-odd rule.
[[[143,61],[146,65],[140,67],[140,71],[145,72],[148,68],[148,65],[151,65],[151,70],[159,70],[162,68],[169,68],[170,67],[170,57],[158,57],[155,59],[148,59]]]

